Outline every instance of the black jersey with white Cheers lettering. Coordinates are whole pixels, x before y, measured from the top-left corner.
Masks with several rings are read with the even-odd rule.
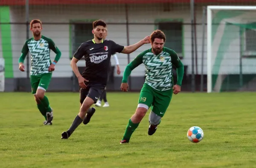
[[[103,40],[99,44],[89,40],[80,45],[73,57],[80,60],[84,56],[86,66],[82,76],[88,83],[106,85],[111,55],[115,52],[121,53],[123,49],[124,46],[112,40]]]

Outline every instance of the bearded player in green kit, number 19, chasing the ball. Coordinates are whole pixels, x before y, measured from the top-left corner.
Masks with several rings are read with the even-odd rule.
[[[140,53],[125,68],[121,84],[121,89],[124,92],[128,90],[127,78],[135,67],[145,64],[147,71],[136,112],[126,126],[121,144],[129,143],[131,134],[139,126],[149,107],[151,107],[151,112],[148,118],[148,135],[154,134],[170,104],[172,93],[176,95],[180,92],[184,67],[174,50],[163,47],[165,41],[166,37],[162,31],[154,31],[150,36],[152,48]],[[177,67],[177,84],[174,86],[172,65]]]

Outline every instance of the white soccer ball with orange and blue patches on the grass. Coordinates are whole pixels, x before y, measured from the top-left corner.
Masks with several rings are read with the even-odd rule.
[[[198,143],[204,138],[204,132],[199,126],[192,126],[187,132],[187,137],[192,143]]]

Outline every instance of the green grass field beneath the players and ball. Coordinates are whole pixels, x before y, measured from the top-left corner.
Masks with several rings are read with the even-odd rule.
[[[256,167],[256,93],[180,93],[172,97],[157,132],[149,136],[148,114],[119,144],[139,93],[108,93],[110,107],[97,108],[61,140],[79,112],[79,93],[47,93],[54,109],[44,126],[30,93],[0,93],[0,168],[252,168]],[[149,111],[148,111],[149,112]],[[186,137],[204,130],[200,143]]]

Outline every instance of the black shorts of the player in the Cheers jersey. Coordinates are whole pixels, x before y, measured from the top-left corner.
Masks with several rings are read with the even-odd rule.
[[[83,104],[84,99],[88,96],[93,99],[94,104],[96,104],[105,87],[106,86],[102,84],[87,84],[86,89],[79,88],[80,103]]]

